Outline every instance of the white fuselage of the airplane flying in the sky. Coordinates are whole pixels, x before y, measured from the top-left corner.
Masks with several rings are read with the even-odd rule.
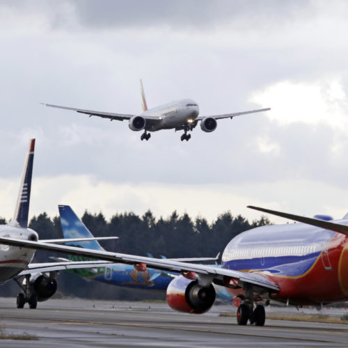
[[[141,116],[158,117],[159,122],[150,125],[151,132],[159,129],[171,129],[182,125],[193,123],[199,113],[199,107],[191,99],[182,99],[168,104],[157,106],[141,113]],[[148,127],[147,127],[148,128]]]

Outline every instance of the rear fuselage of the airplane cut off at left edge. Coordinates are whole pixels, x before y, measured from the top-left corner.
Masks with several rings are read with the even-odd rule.
[[[8,225],[0,226],[0,237],[24,240],[38,240],[38,234],[30,228]],[[35,250],[0,244],[0,283],[17,276],[27,268],[33,259]]]

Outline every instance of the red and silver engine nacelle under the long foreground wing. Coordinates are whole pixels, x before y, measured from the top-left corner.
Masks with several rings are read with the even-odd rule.
[[[168,305],[180,312],[201,314],[207,312],[215,301],[215,289],[212,284],[203,287],[198,280],[189,280],[178,276],[167,288]]]

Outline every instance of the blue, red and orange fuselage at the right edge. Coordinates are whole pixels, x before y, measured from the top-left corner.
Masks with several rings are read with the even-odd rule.
[[[348,225],[348,220],[335,221]],[[226,246],[222,266],[260,272],[279,285],[270,297],[292,304],[348,299],[348,239],[303,223],[262,226]],[[236,296],[240,290],[228,289]]]

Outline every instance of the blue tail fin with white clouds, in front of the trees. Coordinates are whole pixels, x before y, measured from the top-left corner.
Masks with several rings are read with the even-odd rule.
[[[58,205],[59,215],[64,238],[90,238],[94,237],[84,223],[77,217],[70,205]],[[97,241],[68,242],[68,245],[81,246],[93,250],[105,250]]]

